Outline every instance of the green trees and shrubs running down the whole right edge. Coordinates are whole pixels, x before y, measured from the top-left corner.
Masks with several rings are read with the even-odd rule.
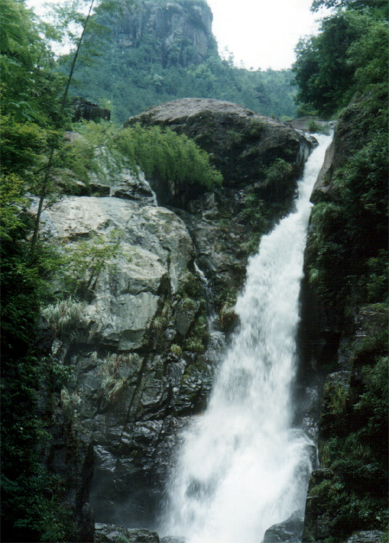
[[[327,116],[348,104],[338,134],[349,157],[312,211],[307,275],[331,326],[345,331],[359,313],[371,327],[348,346],[350,382],[331,382],[324,394],[319,450],[328,477],[312,488],[312,513],[326,517],[325,540],[338,542],[388,529],[388,27],[381,2],[320,5],[345,9],[300,43],[298,100]]]

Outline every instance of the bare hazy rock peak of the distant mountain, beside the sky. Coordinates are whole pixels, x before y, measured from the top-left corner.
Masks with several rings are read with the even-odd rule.
[[[140,1],[137,9],[123,5],[116,28],[121,50],[138,47],[149,32],[161,44],[155,54],[163,66],[199,64],[216,51],[211,32],[212,12],[202,0],[155,2]]]

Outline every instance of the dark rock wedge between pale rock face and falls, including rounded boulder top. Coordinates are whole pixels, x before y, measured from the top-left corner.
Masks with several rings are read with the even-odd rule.
[[[223,329],[245,277],[247,256],[261,233],[288,212],[297,178],[314,145],[312,138],[236,104],[180,99],[148,109],[126,123],[163,126],[194,139],[224,176],[223,187],[201,194],[185,180],[171,186],[149,182],[160,204],[180,209],[197,249],[197,262],[211,281]],[[184,209],[183,209],[184,208]]]

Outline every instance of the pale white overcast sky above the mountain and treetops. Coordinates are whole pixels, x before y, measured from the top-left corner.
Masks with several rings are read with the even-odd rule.
[[[27,0],[27,5],[44,13],[47,0]],[[53,0],[51,0],[53,1]],[[61,0],[54,0],[61,1]],[[214,22],[212,32],[219,53],[235,65],[254,70],[290,68],[300,37],[318,28],[312,0],[207,0]]]

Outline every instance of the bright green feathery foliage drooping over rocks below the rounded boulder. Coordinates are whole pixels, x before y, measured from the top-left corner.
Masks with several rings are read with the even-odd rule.
[[[211,190],[221,185],[222,176],[209,155],[186,135],[170,128],[140,125],[118,130],[111,123],[78,123],[80,137],[73,138],[61,153],[60,166],[89,183],[95,173],[110,183],[114,173],[128,168],[144,171],[150,180],[174,185],[195,185]]]

